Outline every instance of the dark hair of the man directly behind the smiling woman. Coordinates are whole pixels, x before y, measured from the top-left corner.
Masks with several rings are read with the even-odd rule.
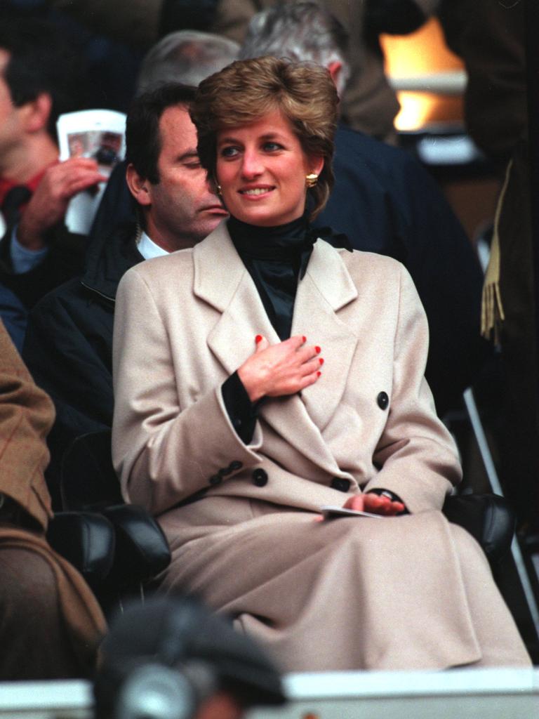
[[[126,161],[152,185],[159,182],[157,161],[161,152],[159,122],[167,107],[183,105],[187,109],[196,88],[167,83],[134,99],[126,122]]]

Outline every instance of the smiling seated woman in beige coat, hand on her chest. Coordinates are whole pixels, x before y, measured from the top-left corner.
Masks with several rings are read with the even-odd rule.
[[[337,102],[326,70],[275,58],[201,83],[198,152],[231,217],[121,280],[124,495],[170,540],[162,590],[198,592],[287,671],[529,664],[482,550],[441,513],[461,470],[409,275],[310,230]]]

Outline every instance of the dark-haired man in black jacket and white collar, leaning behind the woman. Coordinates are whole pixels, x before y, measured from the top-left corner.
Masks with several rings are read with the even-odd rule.
[[[121,276],[137,262],[201,242],[226,216],[198,162],[188,113],[194,92],[169,84],[134,101],[126,124],[126,178],[139,221],[116,225],[105,213],[109,221],[94,227],[82,277],[49,293],[30,314],[24,359],[57,411],[47,470],[54,502],[70,441],[112,423],[112,327]],[[106,192],[106,206],[116,203],[116,187],[111,184],[111,199]]]

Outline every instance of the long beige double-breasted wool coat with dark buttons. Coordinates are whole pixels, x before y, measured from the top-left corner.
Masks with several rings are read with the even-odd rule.
[[[318,239],[292,334],[321,345],[322,376],[267,400],[244,445],[221,384],[257,334],[279,341],[226,224],[119,285],[113,458],[167,533],[163,588],[199,592],[291,671],[526,664],[481,549],[440,512],[461,470],[405,268]],[[316,521],[376,487],[410,515]]]

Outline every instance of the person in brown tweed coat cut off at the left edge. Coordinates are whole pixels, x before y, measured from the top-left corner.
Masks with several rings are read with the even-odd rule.
[[[91,677],[105,621],[45,539],[43,470],[54,408],[0,321],[0,680]]]

